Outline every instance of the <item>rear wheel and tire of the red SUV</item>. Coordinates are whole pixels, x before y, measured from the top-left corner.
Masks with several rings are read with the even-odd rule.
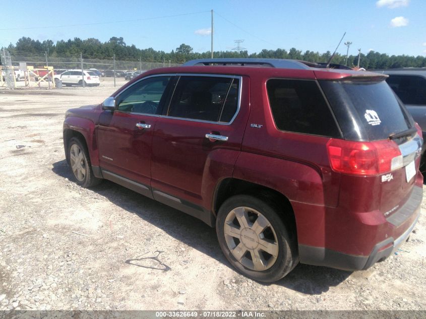
[[[219,209],[216,233],[226,259],[242,274],[274,282],[298,263],[296,242],[274,203],[248,195],[227,199]]]

